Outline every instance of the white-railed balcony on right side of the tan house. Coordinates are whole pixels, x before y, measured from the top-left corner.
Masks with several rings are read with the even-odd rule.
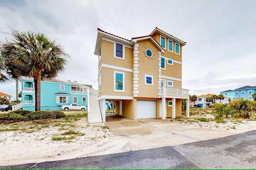
[[[160,96],[188,98],[188,89],[162,86]]]

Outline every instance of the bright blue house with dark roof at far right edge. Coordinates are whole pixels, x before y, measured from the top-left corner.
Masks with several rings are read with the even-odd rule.
[[[252,94],[256,92],[256,86],[244,86],[244,87],[235,89],[234,92],[235,92],[235,100],[239,100],[241,98],[254,100],[252,98]]]

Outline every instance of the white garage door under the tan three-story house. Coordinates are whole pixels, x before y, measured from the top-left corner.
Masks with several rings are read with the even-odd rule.
[[[156,117],[156,101],[137,100],[137,119]]]

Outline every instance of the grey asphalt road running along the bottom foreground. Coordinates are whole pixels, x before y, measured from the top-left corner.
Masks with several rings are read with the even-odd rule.
[[[256,131],[184,145],[0,168],[256,168]]]

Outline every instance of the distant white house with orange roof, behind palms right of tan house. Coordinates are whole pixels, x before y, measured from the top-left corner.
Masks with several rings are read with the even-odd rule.
[[[196,101],[196,103],[198,104],[198,105],[200,105],[201,107],[203,107],[203,108],[206,108],[206,107],[209,107],[209,106],[212,106],[212,102],[206,102],[206,98],[207,97],[211,97],[212,95],[214,95],[214,94],[206,94],[206,95],[200,95],[200,96],[197,96],[197,101]],[[215,100],[215,103],[222,103],[222,104],[224,104],[224,105],[227,105],[228,103],[229,103],[229,101],[228,101],[228,97],[227,96],[224,96],[224,100],[220,100],[220,99],[218,99],[218,100]]]

